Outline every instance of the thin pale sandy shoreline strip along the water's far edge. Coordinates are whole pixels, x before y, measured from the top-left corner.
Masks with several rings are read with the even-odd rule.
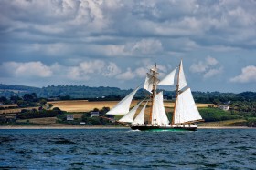
[[[0,130],[8,129],[130,129],[129,127],[115,127],[115,126],[40,126],[40,125],[3,125]],[[255,127],[247,126],[199,126],[198,129],[255,129]]]

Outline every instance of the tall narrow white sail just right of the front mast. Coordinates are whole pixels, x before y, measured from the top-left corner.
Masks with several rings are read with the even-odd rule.
[[[153,112],[152,112],[152,124],[156,124],[156,125],[169,124],[169,120],[165,113],[163,92],[159,92],[157,95],[155,95]]]

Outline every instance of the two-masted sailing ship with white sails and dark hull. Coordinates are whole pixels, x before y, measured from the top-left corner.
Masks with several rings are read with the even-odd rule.
[[[196,131],[197,122],[201,121],[202,117],[197,110],[191,90],[187,87],[182,61],[162,80],[158,79],[158,74],[156,65],[146,74],[144,89],[150,95],[145,97],[144,100],[130,110],[133,96],[139,90],[138,86],[115,105],[107,115],[123,115],[117,122],[129,124],[133,130]],[[157,87],[160,85],[174,85],[176,76],[176,101],[172,118],[169,120],[165,113],[163,91],[157,91]],[[142,109],[139,110],[141,107]]]

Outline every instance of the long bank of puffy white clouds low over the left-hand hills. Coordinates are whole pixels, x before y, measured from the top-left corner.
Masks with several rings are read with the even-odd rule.
[[[41,61],[27,63],[5,62],[0,65],[0,71],[5,77],[35,79],[61,77],[76,81],[90,80],[94,75],[114,77],[121,74],[121,69],[115,63],[106,63],[102,60],[83,61],[79,65],[72,66],[59,65],[59,63],[45,65]],[[127,73],[123,73],[123,76],[125,75],[128,76]]]

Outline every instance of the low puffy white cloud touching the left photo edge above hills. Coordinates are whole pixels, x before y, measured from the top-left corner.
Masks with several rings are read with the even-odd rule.
[[[51,67],[41,62],[6,62],[1,65],[1,70],[15,77],[49,77],[52,75]]]

